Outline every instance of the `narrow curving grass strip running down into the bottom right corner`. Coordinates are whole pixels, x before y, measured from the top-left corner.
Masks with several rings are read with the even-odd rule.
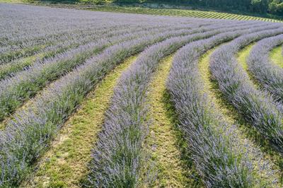
[[[262,148],[262,151],[265,151],[262,152],[264,158],[258,158],[257,155],[255,155],[255,153],[258,152],[258,145],[256,145],[255,143],[258,142],[253,142],[255,141],[255,138],[259,138],[258,133],[253,127],[246,124],[243,117],[241,117],[241,114],[238,114],[236,109],[232,105],[230,105],[227,100],[225,100],[224,95],[222,95],[221,91],[219,90],[218,83],[216,83],[216,81],[212,79],[212,74],[209,71],[209,57],[215,49],[216,48],[209,50],[200,59],[199,70],[204,86],[204,93],[206,93],[210,105],[213,105],[213,109],[221,114],[221,119],[224,119],[226,122],[228,122],[230,126],[233,124],[237,126],[234,134],[237,134],[238,142],[241,143],[241,145],[238,146],[238,144],[235,144],[235,146],[233,147],[236,147],[236,149],[239,149],[241,151],[241,148],[244,148],[243,146],[245,146],[245,143],[248,143],[253,149],[248,152],[248,158],[252,160],[253,165],[255,166],[255,175],[257,175],[259,179],[262,180],[262,182],[270,181],[272,179],[280,180],[282,178],[282,175],[279,173],[268,175],[269,171],[280,169],[278,163],[276,165],[273,164],[279,161],[279,156],[275,155],[275,153],[270,151],[270,149],[268,149],[268,151],[265,150],[269,148],[268,146],[265,147],[265,149]],[[250,46],[247,47],[246,51],[248,49],[250,49]],[[246,51],[242,55],[243,57],[246,56]],[[272,169],[260,169],[260,167],[262,167],[262,165],[267,161],[268,163],[270,163]],[[274,185],[275,187],[279,186],[279,184]]]

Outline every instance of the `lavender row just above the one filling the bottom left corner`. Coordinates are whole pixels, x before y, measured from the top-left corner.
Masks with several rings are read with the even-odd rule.
[[[170,35],[190,33],[190,30],[184,29],[173,30],[171,33],[169,31],[168,35],[164,36],[164,38]],[[81,45],[64,54],[59,54],[57,57],[47,59],[43,62],[40,61],[30,67],[30,69],[21,71],[12,78],[6,78],[0,81],[0,120],[16,110],[25,100],[35,95],[47,83],[67,74],[79,64],[83,64],[88,58],[101,52],[105,47],[123,41],[134,40],[144,35],[154,35],[154,33],[164,33],[164,30],[160,28],[159,30],[149,30],[149,32],[126,33],[125,35],[103,38],[87,45]]]

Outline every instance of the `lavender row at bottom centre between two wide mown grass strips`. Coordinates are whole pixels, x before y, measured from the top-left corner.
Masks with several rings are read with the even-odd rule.
[[[221,32],[219,30],[214,35]],[[93,151],[91,173],[88,176],[90,186],[136,187],[149,183],[142,176],[146,166],[142,145],[149,124],[145,101],[151,76],[163,57],[187,42],[210,36],[209,33],[203,33],[195,35],[195,38],[194,35],[175,37],[154,45],[122,75]]]

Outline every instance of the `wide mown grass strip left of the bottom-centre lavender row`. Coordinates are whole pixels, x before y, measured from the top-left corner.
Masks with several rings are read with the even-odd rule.
[[[88,94],[79,110],[64,124],[49,151],[40,159],[39,169],[24,187],[80,187],[88,174],[91,149],[110,105],[113,89],[122,71],[137,56],[130,57],[106,76]]]

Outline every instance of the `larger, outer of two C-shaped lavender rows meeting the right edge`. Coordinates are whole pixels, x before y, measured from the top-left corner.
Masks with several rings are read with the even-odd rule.
[[[210,59],[210,70],[224,97],[279,153],[283,153],[281,107],[269,95],[255,88],[234,56],[251,42],[281,33],[283,28],[243,35],[216,49]]]

